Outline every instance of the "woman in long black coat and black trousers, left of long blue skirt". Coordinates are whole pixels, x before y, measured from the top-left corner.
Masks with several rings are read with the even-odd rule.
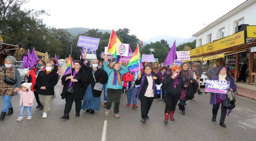
[[[65,98],[66,104],[64,115],[60,119],[69,119],[73,101],[76,104],[76,117],[80,116],[83,94],[90,82],[87,72],[81,68],[80,61],[74,61],[74,68],[71,71],[72,75],[66,74],[61,78],[61,83],[64,85],[61,99]]]

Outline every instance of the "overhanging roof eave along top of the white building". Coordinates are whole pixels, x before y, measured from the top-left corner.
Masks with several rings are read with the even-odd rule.
[[[231,11],[229,11],[228,13],[224,14],[223,16],[221,16],[220,18],[218,18],[217,20],[215,20],[211,24],[207,25],[206,27],[204,27],[203,29],[201,29],[197,33],[193,34],[192,36],[196,37],[199,34],[204,33],[205,31],[207,31],[211,27],[219,24],[220,22],[222,22],[226,18],[228,18],[228,17],[232,16],[233,14],[241,11],[242,9],[244,9],[245,7],[247,7],[248,5],[250,5],[250,4],[254,3],[254,2],[256,2],[256,0],[247,0],[247,1],[243,2],[242,4],[238,5],[236,8],[234,8]]]

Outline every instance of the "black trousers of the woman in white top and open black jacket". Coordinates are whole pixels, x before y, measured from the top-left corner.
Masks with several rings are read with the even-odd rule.
[[[141,117],[146,118],[153,103],[154,97],[141,96],[139,100],[141,101]]]

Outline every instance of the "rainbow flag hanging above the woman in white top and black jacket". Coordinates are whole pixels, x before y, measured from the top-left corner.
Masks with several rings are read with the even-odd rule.
[[[139,53],[139,45],[137,44],[137,47],[134,51],[134,55],[132,56],[131,60],[127,64],[128,69],[130,72],[137,72],[139,71],[139,63],[140,63],[140,69],[143,69],[143,65],[141,62],[141,55]]]

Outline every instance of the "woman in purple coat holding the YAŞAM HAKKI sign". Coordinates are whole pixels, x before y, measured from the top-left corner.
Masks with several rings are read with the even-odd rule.
[[[229,90],[235,92],[237,89],[235,80],[232,76],[230,76],[229,73],[226,73],[226,72],[227,72],[226,67],[220,67],[219,70],[217,71],[217,75],[211,77],[211,80],[230,81]],[[205,91],[205,93],[207,93],[207,92]],[[213,121],[213,122],[216,121],[217,112],[218,112],[219,106],[221,104],[221,119],[220,119],[219,125],[221,125],[221,127],[225,127],[225,128],[226,128],[226,125],[224,124],[224,121],[225,121],[225,117],[226,117],[228,109],[223,107],[223,101],[226,99],[226,97],[227,97],[226,94],[217,94],[217,93],[211,92],[211,100],[210,100],[210,103],[213,105],[211,121]],[[228,110],[228,115],[231,113],[231,111],[232,111],[232,109]]]

